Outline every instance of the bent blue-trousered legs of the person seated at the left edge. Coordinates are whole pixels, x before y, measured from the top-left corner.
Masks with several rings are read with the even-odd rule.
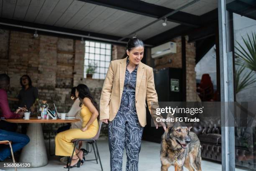
[[[0,130],[0,141],[2,140],[12,142],[13,153],[23,148],[30,141],[27,135]],[[0,148],[0,161],[4,161],[10,155],[11,151],[9,145],[2,145]]]

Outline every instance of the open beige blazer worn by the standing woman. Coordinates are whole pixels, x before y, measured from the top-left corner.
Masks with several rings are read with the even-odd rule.
[[[109,119],[112,121],[118,112],[123,94],[126,59],[127,57],[110,62],[100,97],[100,120]],[[151,102],[158,102],[153,69],[140,62],[137,69],[135,106],[142,127],[146,125],[146,100],[151,113]],[[154,122],[154,118],[159,117],[152,115],[152,113],[151,116]]]

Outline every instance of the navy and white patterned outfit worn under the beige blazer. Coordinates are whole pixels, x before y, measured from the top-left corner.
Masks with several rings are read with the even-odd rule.
[[[126,61],[126,66],[129,59]],[[138,171],[141,150],[141,127],[135,107],[137,67],[130,73],[126,68],[120,108],[108,124],[111,171],[122,171],[124,147],[127,155],[126,171]]]

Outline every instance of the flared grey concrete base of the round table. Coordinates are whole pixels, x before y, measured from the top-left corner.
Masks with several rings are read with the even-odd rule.
[[[41,167],[48,163],[44,134],[40,123],[29,123],[27,135],[30,142],[22,149],[20,162],[31,163],[31,167]]]

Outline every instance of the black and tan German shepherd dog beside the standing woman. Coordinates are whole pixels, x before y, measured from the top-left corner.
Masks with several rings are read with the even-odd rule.
[[[177,165],[177,171],[183,166],[189,171],[201,171],[201,148],[197,135],[190,132],[192,127],[169,127],[162,135],[161,171],[168,171]],[[195,168],[195,169],[194,169]]]

